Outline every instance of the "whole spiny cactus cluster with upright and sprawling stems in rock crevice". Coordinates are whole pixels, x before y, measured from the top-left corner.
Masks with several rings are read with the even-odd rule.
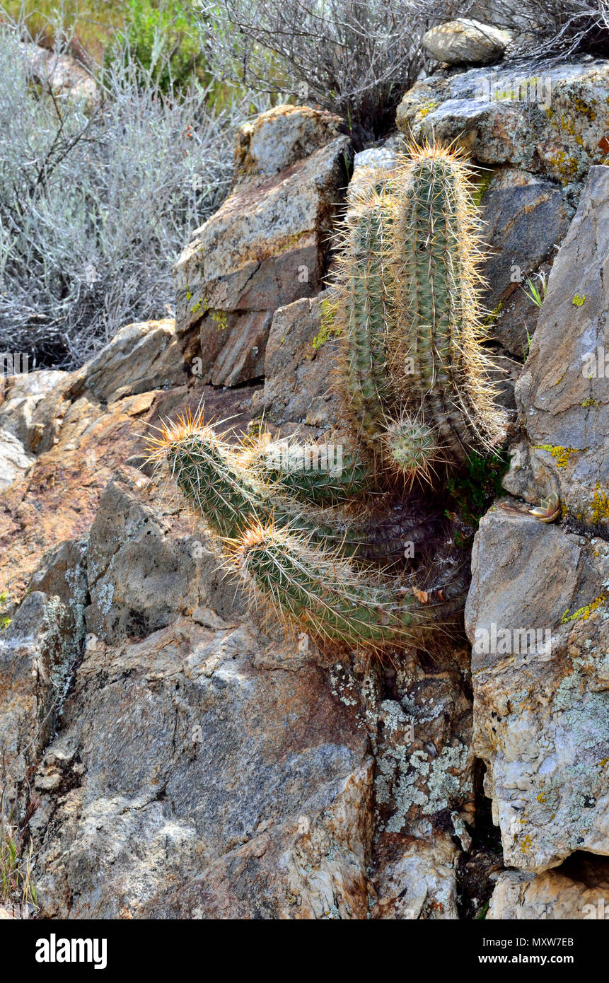
[[[445,530],[421,482],[441,490],[448,469],[496,448],[504,418],[483,348],[462,156],[412,146],[391,174],[361,178],[347,196],[332,304],[353,448],[337,460],[332,445],[270,434],[233,447],[201,413],[164,425],[152,458],[229,545],[253,597],[321,639],[380,652],[427,646],[462,606],[463,568],[453,548],[442,556]],[[415,584],[425,568],[433,589]]]

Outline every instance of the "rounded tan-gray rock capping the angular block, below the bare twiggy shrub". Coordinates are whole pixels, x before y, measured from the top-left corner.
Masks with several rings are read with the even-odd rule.
[[[297,160],[330,144],[344,124],[339,116],[310,106],[274,106],[244,123],[235,141],[235,180],[274,177]]]

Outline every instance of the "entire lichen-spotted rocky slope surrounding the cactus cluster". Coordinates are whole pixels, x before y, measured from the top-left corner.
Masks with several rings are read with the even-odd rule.
[[[609,62],[554,66],[548,107],[479,98],[488,73],[417,83],[354,171],[330,114],[259,117],[177,263],[176,320],[3,380],[0,746],[9,799],[36,806],[42,917],[581,918],[606,892],[609,397],[604,362],[581,367],[609,349]],[[264,413],[339,436],[328,234],[348,175],[391,167],[401,133],[481,165],[515,422],[472,648],[383,666],[248,613],[144,437],[202,399],[238,432]],[[550,270],[541,311],[515,268]],[[551,492],[546,525],[528,509]],[[520,630],[543,646],[518,651]]]

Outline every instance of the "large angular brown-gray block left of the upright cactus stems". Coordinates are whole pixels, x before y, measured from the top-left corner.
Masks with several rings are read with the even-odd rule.
[[[315,125],[319,129],[319,120]],[[271,147],[268,162],[257,158],[259,170],[274,172],[275,163],[309,145],[307,114],[276,113],[264,125],[255,122],[252,139],[257,126],[257,152]],[[175,267],[177,328],[200,328],[204,382],[236,385],[262,376],[274,311],[319,292],[351,153],[348,138],[336,137],[278,174],[238,183],[182,253]]]

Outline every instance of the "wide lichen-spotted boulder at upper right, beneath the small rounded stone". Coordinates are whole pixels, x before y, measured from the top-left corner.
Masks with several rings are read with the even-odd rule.
[[[609,152],[608,97],[609,61],[502,63],[417,82],[396,124],[419,143],[457,141],[481,164],[521,167],[579,194]]]

